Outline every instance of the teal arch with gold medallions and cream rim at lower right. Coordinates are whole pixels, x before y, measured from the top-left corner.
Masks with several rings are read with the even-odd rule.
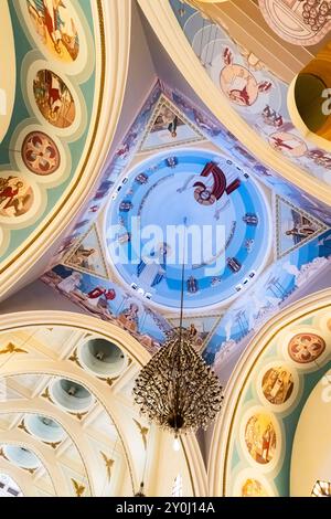
[[[209,481],[213,496],[290,495],[290,470],[298,474],[300,458],[298,444],[297,457],[292,454],[300,412],[318,384],[319,392],[325,393],[321,405],[329,414],[330,367],[328,288],[270,319],[233,371],[211,439]],[[275,385],[275,380],[282,380],[282,384]],[[314,457],[313,445],[310,448],[305,455]],[[291,468],[291,463],[297,467]],[[320,468],[325,476],[325,467]],[[318,464],[310,470],[310,478],[320,478]]]

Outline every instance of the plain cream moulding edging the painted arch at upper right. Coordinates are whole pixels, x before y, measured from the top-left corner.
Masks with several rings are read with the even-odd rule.
[[[279,157],[244,119],[229,106],[205,73],[199,59],[191,49],[169,0],[138,0],[139,4],[157,33],[159,40],[195,91],[202,102],[238,140],[246,146],[258,160],[275,169],[285,179],[303,189],[324,203],[331,203],[330,188],[301,170],[285,157]]]

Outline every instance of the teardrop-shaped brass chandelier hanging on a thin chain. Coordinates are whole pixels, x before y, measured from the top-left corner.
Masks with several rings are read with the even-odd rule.
[[[183,327],[183,286],[184,261],[180,326],[168,332],[163,347],[140,371],[134,388],[141,414],[174,433],[175,438],[206,430],[223,402],[217,377],[195,351],[192,333]]]

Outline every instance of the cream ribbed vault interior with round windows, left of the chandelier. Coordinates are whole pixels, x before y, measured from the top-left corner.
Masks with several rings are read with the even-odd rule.
[[[0,473],[26,496],[137,491],[164,439],[132,406],[139,364],[122,338],[77,326],[2,329]]]

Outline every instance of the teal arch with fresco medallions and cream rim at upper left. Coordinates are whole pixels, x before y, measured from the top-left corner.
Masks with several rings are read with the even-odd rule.
[[[8,121],[1,116],[6,137],[0,147],[0,298],[26,283],[36,260],[61,236],[97,181],[120,114],[128,66],[129,0],[62,2],[57,8],[66,28],[62,34],[73,28],[75,34],[57,42],[49,35],[44,19],[38,20],[41,11],[35,1],[10,2],[12,25],[7,25],[13,27],[18,39],[20,103],[10,113],[15,91],[12,66],[7,75],[10,88],[3,80],[0,84],[8,92],[11,116],[7,133]],[[1,9],[6,6],[3,0]],[[7,12],[3,15],[8,18]],[[72,47],[65,46],[68,40]],[[10,42],[9,34],[7,57],[13,52]],[[56,100],[50,97],[55,91],[67,95],[60,94]],[[43,160],[33,159],[38,148]],[[13,194],[8,198],[9,190]]]

